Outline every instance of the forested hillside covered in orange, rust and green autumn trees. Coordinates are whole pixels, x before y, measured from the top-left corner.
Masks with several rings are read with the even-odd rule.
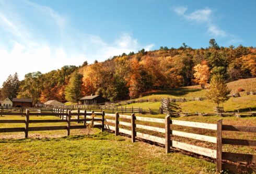
[[[65,66],[42,74],[28,73],[14,93],[32,97],[34,103],[48,100],[76,102],[84,95],[101,94],[110,101],[135,98],[152,89],[177,88],[207,83],[213,74],[222,74],[227,82],[256,77],[256,48],[220,47],[214,39],[207,48],[160,47],[156,51],[129,53],[104,61],[87,61],[80,66]],[[9,77],[12,78],[11,76]],[[4,82],[1,98],[11,80]],[[16,88],[17,89],[17,88]]]

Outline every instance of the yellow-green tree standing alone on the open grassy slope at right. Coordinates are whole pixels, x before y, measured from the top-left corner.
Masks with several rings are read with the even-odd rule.
[[[223,76],[220,74],[215,74],[211,78],[210,88],[206,94],[208,100],[219,106],[220,103],[223,103],[228,100],[227,95],[229,93],[230,90],[227,88]]]

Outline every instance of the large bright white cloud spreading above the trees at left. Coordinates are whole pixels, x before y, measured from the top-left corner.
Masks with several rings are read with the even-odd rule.
[[[32,71],[82,65],[85,60],[103,61],[154,46],[142,45],[126,32],[117,40],[106,42],[99,35],[73,28],[68,16],[27,0],[14,4],[0,0],[0,34],[0,85],[14,72],[22,79]],[[4,66],[9,63],[11,67]]]

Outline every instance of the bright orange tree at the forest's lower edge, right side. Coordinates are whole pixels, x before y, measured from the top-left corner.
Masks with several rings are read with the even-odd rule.
[[[201,85],[201,88],[204,89],[204,86],[207,84],[207,81],[210,77],[210,68],[207,65],[197,64],[194,66],[194,78],[195,82]]]

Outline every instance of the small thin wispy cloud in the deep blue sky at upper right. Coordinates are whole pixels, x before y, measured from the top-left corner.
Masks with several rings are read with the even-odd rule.
[[[211,34],[212,36],[220,36],[225,37],[229,34],[220,29],[214,22],[213,22],[213,10],[210,8],[204,8],[195,10],[192,13],[186,13],[188,10],[187,7],[179,6],[179,7],[173,7],[173,11],[179,15],[184,17],[185,19],[189,20],[190,22],[197,22],[197,23],[203,23],[207,26],[207,32]]]

